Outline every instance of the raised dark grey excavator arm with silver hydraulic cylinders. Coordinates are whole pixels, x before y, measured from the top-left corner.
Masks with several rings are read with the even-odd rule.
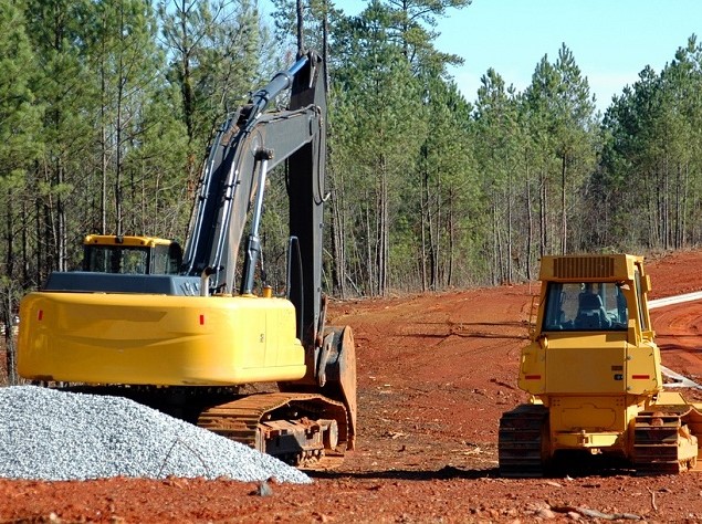
[[[324,64],[302,56],[256,91],[218,132],[202,170],[182,273],[209,273],[210,292],[252,292],[260,245],[258,224],[268,171],[287,163],[290,237],[298,245],[300,271],[291,271],[289,297],[298,312],[298,337],[316,338],[321,314],[324,155],[326,151]],[[271,99],[292,87],[290,108],[264,113]],[[243,250],[243,276],[234,282],[238,252],[249,213],[252,230]],[[296,253],[295,253],[296,254]]]

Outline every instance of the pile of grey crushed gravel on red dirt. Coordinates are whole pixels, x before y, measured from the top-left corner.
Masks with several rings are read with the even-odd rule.
[[[132,400],[34,386],[0,388],[0,478],[310,478],[273,457]]]

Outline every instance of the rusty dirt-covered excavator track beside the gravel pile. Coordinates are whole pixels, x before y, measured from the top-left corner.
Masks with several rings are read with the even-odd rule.
[[[202,410],[197,423],[305,470],[339,467],[348,439],[344,405],[317,394],[250,395]]]

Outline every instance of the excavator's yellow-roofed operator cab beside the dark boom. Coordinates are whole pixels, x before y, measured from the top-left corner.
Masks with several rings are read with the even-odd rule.
[[[150,237],[90,234],[83,240],[83,271],[118,274],[177,274],[182,250]]]

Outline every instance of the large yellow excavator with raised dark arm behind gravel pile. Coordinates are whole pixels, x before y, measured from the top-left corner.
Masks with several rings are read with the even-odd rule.
[[[128,397],[301,468],[338,465],[355,442],[356,361],[322,293],[324,75],[317,54],[302,54],[221,126],[185,250],[88,235],[82,271],[28,294],[20,376]],[[289,108],[266,112],[287,90]],[[274,296],[256,269],[266,177],[282,163],[290,235]]]

